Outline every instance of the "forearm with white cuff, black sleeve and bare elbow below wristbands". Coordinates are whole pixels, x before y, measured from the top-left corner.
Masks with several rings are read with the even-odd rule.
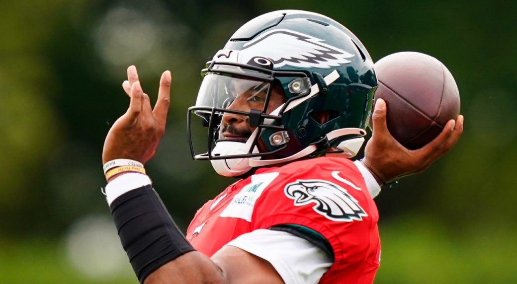
[[[133,189],[130,184],[140,187]],[[117,177],[107,186],[107,199],[120,241],[141,282],[227,283],[220,267],[193,250],[179,232],[147,176]]]

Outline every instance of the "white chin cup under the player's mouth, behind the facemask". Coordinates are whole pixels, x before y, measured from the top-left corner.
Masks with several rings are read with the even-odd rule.
[[[247,143],[238,141],[219,141],[212,150],[214,156],[242,155],[249,153],[250,146]],[[257,147],[253,153],[258,153]],[[249,158],[210,160],[216,172],[225,177],[236,177],[244,175],[252,167],[249,165]]]

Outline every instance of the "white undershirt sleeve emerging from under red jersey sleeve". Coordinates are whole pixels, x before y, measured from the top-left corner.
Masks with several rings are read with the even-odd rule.
[[[317,283],[332,265],[321,248],[283,231],[258,229],[226,245],[267,260],[286,284]]]

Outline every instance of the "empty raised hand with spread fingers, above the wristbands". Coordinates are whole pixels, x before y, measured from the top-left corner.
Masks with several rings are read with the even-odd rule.
[[[165,132],[165,122],[170,105],[171,72],[160,78],[158,100],[151,108],[149,96],[143,92],[134,66],[127,70],[128,80],[123,88],[130,97],[127,112],[111,127],[104,141],[102,163],[114,159],[131,159],[145,164],[156,151]]]

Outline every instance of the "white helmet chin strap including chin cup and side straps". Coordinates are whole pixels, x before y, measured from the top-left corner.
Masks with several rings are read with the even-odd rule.
[[[332,71],[330,74],[325,76],[324,80],[327,85],[332,84],[334,81],[339,78],[339,73],[337,70]],[[290,111],[294,107],[298,106],[299,104],[307,101],[308,99],[315,96],[316,93],[320,92],[320,89],[318,85],[313,85],[311,87],[310,93],[303,97],[299,98],[297,100],[294,100],[290,102],[289,105],[284,110],[285,112]],[[280,112],[280,109],[282,109],[284,105],[282,104],[278,108],[276,108],[273,112],[271,112],[271,115],[278,115]],[[264,119],[264,123],[271,124],[273,120],[271,119]],[[344,135],[366,135],[366,131],[360,128],[342,128],[342,129],[336,129],[329,133],[327,133],[327,139],[330,141],[332,139],[344,136]],[[251,150],[251,145],[253,144],[253,141],[255,141],[256,136],[258,135],[258,128],[253,131],[251,136],[248,138],[248,141],[246,143],[238,142],[238,141],[220,141],[216,144],[216,147],[214,147],[214,150],[212,150],[212,155],[215,156],[224,156],[224,155],[240,155],[240,154],[247,154]],[[359,152],[361,149],[361,146],[364,142],[363,137],[353,138],[346,141],[343,141],[340,143],[337,148],[340,150],[343,150],[345,157],[353,157]],[[216,170],[216,172],[225,177],[236,177],[240,175],[244,175],[246,172],[251,170],[254,167],[262,167],[262,166],[269,166],[289,161],[294,161],[297,159],[300,159],[302,157],[308,156],[312,153],[314,153],[317,150],[317,147],[315,145],[309,145],[305,149],[299,151],[298,153],[282,158],[282,159],[273,159],[273,160],[261,160],[261,157],[251,157],[251,158],[236,158],[236,159],[221,159],[221,160],[210,160],[212,167]],[[258,149],[255,146],[253,148],[252,153],[258,153]]]

